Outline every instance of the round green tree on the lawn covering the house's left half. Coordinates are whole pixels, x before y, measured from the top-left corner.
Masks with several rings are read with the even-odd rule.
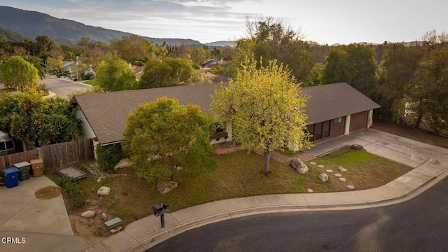
[[[161,97],[137,106],[128,116],[123,149],[148,182],[173,180],[180,172],[195,174],[216,167],[209,143],[214,131],[214,123],[199,106]]]

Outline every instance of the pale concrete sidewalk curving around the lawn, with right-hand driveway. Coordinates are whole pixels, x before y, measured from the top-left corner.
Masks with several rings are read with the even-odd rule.
[[[26,244],[8,244],[7,251],[54,251],[56,244],[66,244],[64,251],[144,251],[186,230],[229,218],[279,211],[325,211],[378,207],[409,200],[448,174],[448,150],[430,146],[377,130],[362,130],[316,145],[306,151],[320,156],[351,144],[361,144],[370,153],[414,167],[411,172],[379,188],[338,193],[302,193],[259,195],[218,200],[165,214],[165,228],[160,218],[147,216],[127,225],[125,230],[106,239],[83,239],[70,235],[32,234]],[[0,232],[5,237],[5,232]],[[8,234],[9,235],[9,234]],[[13,233],[28,237],[28,233]],[[38,239],[36,237],[41,237]],[[47,239],[48,238],[48,239]],[[35,240],[34,240],[35,239]],[[4,246],[3,244],[0,244]],[[60,245],[59,245],[60,246]]]

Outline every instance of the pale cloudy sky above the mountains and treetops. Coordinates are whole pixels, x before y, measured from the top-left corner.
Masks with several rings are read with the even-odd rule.
[[[2,0],[85,25],[201,43],[247,36],[246,20],[272,17],[320,44],[416,41],[447,31],[442,0]]]

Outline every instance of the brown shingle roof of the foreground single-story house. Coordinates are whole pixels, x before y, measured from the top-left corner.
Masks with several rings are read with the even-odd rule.
[[[139,104],[153,102],[158,97],[179,99],[180,104],[199,105],[203,113],[211,114],[211,95],[218,84],[160,87],[97,94],[76,95],[76,103],[83,111],[90,127],[101,144],[111,144],[123,139],[127,115]],[[320,85],[302,89],[310,97],[305,108],[309,122],[347,116],[361,111],[377,109],[379,105],[346,83]]]

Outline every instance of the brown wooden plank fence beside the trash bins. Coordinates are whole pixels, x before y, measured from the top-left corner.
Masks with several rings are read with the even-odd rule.
[[[65,165],[94,160],[92,139],[43,146],[40,151],[45,169],[56,169]],[[29,162],[37,158],[38,150],[4,155],[0,157],[0,170],[13,167],[18,162]]]

